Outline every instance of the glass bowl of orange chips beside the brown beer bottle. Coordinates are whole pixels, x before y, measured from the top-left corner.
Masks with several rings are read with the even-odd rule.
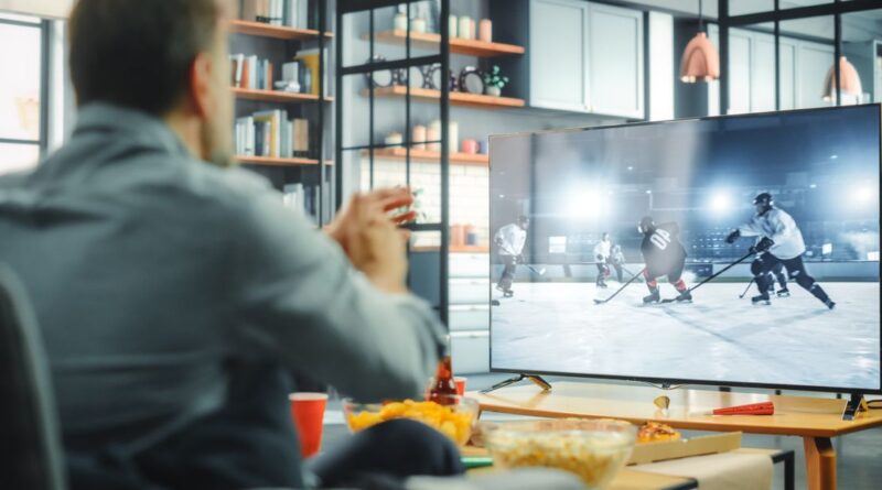
[[[458,395],[451,395],[444,404],[413,400],[358,403],[343,399],[346,425],[354,433],[392,418],[411,418],[434,427],[460,446],[469,442],[477,412],[476,401]]]

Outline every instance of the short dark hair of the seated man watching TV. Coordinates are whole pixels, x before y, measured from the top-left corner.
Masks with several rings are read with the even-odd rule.
[[[219,13],[217,0],[79,0],[69,20],[77,105],[166,115],[196,55],[211,50]]]

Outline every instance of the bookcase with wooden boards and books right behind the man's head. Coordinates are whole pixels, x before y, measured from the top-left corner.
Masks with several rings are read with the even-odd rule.
[[[306,0],[299,1],[306,2]],[[239,11],[241,17],[241,13],[248,10],[245,3],[238,3],[243,9]],[[284,0],[284,9],[289,6],[289,0]],[[332,64],[327,56],[329,43],[334,40],[334,34],[326,29],[327,6],[324,2],[313,1],[309,1],[308,6],[305,18],[297,17],[295,19],[300,21],[284,20],[287,23],[301,25],[298,28],[258,22],[254,18],[229,21],[230,53],[241,54],[246,59],[257,57],[258,68],[255,70],[255,65],[250,65],[249,75],[256,76],[256,73],[260,73],[261,76],[258,78],[260,83],[257,86],[266,87],[266,89],[251,89],[232,86],[229,90],[236,101],[235,132],[238,151],[252,153],[250,150],[254,149],[262,155],[277,155],[239,154],[236,160],[247,165],[249,171],[266,177],[278,190],[284,192],[286,203],[290,203],[289,188],[294,185],[301,193],[305,192],[306,196],[313,196],[306,198],[304,210],[321,226],[333,216],[334,165],[333,161],[326,157],[330,131],[325,129],[325,124],[331,120],[326,110],[334,100],[327,97],[330,87],[326,78],[329,65]],[[297,15],[302,14],[301,11],[297,13]],[[316,52],[320,53],[318,67],[314,61]],[[304,92],[273,90],[272,81],[282,78],[282,65],[301,55],[313,58],[300,65],[301,72],[311,70],[312,90]],[[241,57],[238,59],[232,57],[232,61],[235,68],[236,63],[241,63]],[[269,67],[265,67],[263,63]],[[265,76],[266,81],[263,81]],[[263,119],[258,118],[258,115]],[[268,117],[271,119],[267,120]],[[289,137],[291,127],[278,121],[291,121],[293,124],[294,120],[301,123],[304,131],[295,131]],[[309,122],[304,124],[302,122],[304,120]],[[261,124],[263,126],[260,127]],[[267,135],[268,130],[273,133]],[[293,138],[294,141],[289,143],[288,138]],[[267,150],[266,145],[270,141],[275,142],[270,143],[271,146]],[[298,156],[291,156],[292,154]],[[300,206],[302,205],[304,203],[301,200]]]

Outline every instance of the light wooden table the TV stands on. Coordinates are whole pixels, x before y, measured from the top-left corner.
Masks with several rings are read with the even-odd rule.
[[[662,411],[653,404],[659,395],[670,398]],[[659,390],[650,386],[582,382],[557,382],[551,391],[536,385],[508,386],[492,393],[470,392],[481,410],[540,417],[614,417],[634,423],[657,421],[678,428],[741,431],[803,438],[806,477],[813,490],[836,489],[836,451],[831,437],[882,426],[882,411],[842,421],[845,400],[764,395],[706,390]],[[772,401],[775,415],[704,415],[712,409]]]

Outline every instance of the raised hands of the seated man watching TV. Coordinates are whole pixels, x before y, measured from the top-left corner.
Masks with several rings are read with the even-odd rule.
[[[407,189],[381,189],[355,195],[325,231],[336,240],[353,265],[378,288],[404,293],[407,275],[405,242],[410,237],[398,224],[415,218],[413,211],[389,216],[392,209],[409,206],[413,197]]]

